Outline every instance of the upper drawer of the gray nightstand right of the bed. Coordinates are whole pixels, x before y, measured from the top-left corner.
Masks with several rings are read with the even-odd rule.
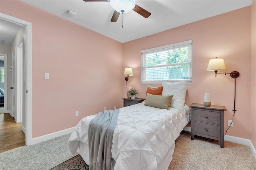
[[[194,121],[201,121],[220,125],[220,112],[194,109]]]

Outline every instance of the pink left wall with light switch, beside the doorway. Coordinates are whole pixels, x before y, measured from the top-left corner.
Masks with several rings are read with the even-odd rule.
[[[122,107],[122,43],[22,1],[0,11],[32,23],[32,138]]]

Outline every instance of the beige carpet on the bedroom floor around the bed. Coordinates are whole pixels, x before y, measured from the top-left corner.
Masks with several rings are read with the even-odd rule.
[[[0,169],[49,170],[73,157],[68,150],[69,136],[66,134],[2,152]],[[168,170],[256,170],[256,160],[249,146],[225,141],[224,148],[220,148],[216,140],[202,140],[196,136],[191,140],[190,134],[185,132],[175,143]]]

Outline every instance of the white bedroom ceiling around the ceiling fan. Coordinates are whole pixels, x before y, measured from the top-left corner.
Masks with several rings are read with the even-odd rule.
[[[253,0],[136,0],[136,4],[150,12],[151,16],[144,18],[133,10],[125,13],[124,28],[122,28],[122,14],[117,22],[110,22],[114,12],[110,2],[22,1],[124,43],[250,6]],[[76,12],[76,16],[68,16],[68,10]]]

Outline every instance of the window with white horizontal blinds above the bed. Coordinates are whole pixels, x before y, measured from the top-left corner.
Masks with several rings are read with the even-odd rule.
[[[141,51],[141,83],[192,83],[192,40]]]

